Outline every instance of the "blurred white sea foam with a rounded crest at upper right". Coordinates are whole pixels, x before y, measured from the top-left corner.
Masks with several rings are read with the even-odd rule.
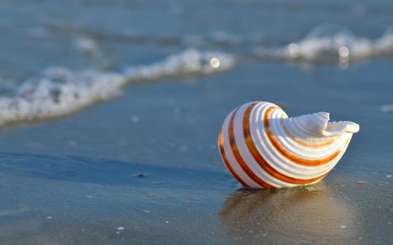
[[[300,41],[279,47],[259,47],[253,56],[305,62],[355,62],[393,54],[393,32],[379,38],[354,36],[351,31],[335,25],[322,25]]]

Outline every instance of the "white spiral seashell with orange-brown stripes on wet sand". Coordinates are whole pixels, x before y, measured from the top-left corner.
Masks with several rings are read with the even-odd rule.
[[[244,104],[229,113],[220,130],[222,161],[246,188],[317,183],[359,131],[356,123],[328,121],[326,112],[288,118],[269,102]]]

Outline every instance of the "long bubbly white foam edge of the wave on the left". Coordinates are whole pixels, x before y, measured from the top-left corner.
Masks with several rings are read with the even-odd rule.
[[[4,84],[0,87],[4,91],[0,97],[0,125],[64,116],[94,102],[116,97],[122,87],[135,80],[208,75],[230,69],[235,62],[232,55],[222,52],[185,50],[161,62],[128,67],[123,73],[49,67],[41,76],[25,80],[20,86]]]

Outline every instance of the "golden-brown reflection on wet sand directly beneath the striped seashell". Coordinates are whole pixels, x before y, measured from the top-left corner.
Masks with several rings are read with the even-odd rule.
[[[322,183],[309,190],[237,190],[220,218],[229,238],[242,244],[357,244],[359,239],[357,210]]]

